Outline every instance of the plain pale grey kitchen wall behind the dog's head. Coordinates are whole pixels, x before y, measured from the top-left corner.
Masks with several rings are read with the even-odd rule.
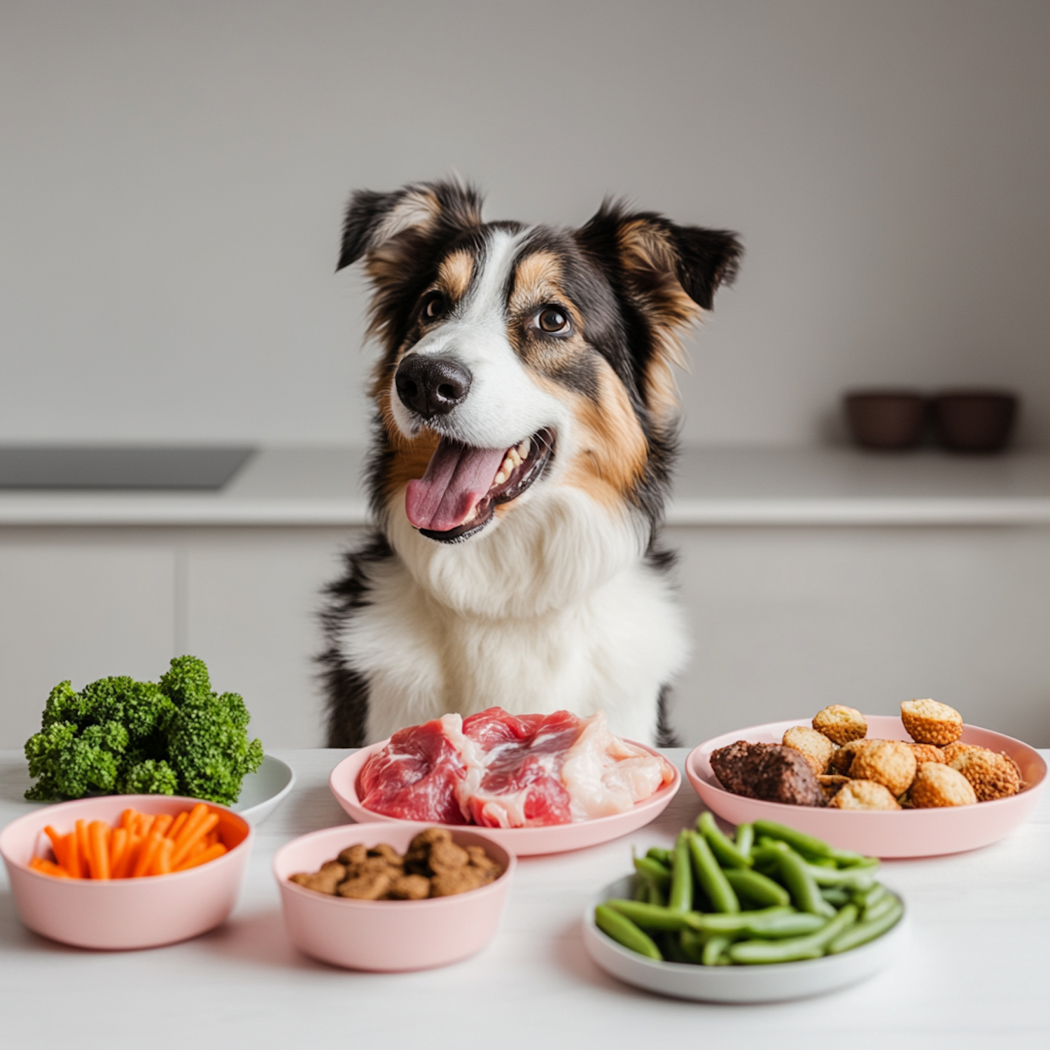
[[[0,440],[360,443],[355,187],[739,230],[685,438],[995,383],[1050,442],[1050,4],[4,0]]]

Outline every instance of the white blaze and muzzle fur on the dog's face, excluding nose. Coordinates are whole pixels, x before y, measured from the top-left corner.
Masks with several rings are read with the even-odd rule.
[[[494,231],[464,300],[408,351],[450,358],[469,371],[466,400],[435,422],[444,437],[476,448],[510,448],[545,426],[558,429],[567,423],[565,405],[533,381],[507,336],[506,293],[527,235]],[[391,405],[402,433],[415,434],[418,424],[398,398],[393,379]]]

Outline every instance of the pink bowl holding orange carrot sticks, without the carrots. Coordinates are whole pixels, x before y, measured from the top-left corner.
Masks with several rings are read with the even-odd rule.
[[[153,948],[186,941],[224,922],[237,903],[252,845],[251,825],[226,806],[219,835],[229,848],[188,872],[151,878],[58,879],[28,867],[50,856],[44,827],[65,834],[78,819],[116,823],[127,810],[182,813],[197,799],[166,795],[108,795],[42,806],[0,833],[0,854],[19,918],[29,929],[79,948]]]

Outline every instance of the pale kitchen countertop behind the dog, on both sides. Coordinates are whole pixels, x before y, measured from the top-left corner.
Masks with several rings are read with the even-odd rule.
[[[0,526],[362,525],[364,454],[264,448],[217,492],[0,491]],[[686,448],[671,525],[1050,524],[1050,452]]]

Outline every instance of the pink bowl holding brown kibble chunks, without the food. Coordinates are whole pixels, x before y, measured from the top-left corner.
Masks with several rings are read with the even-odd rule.
[[[433,826],[433,825],[430,825]],[[423,901],[355,901],[329,897],[289,881],[316,872],[355,843],[386,842],[404,853],[419,833],[406,822],[342,824],[294,839],[277,852],[273,874],[280,887],[289,940],[308,956],[354,970],[425,970],[480,951],[496,934],[516,861],[487,835],[455,828],[459,845],[480,845],[503,867],[495,882],[455,897]]]

